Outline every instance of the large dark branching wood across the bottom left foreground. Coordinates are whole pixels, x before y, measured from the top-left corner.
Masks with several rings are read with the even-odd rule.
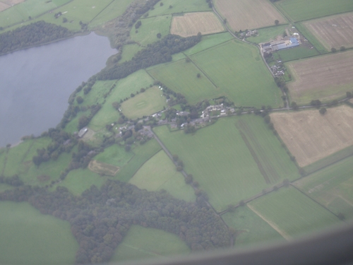
[[[229,229],[207,205],[119,181],[109,180],[101,189],[92,186],[81,196],[73,196],[65,187],[48,192],[22,186],[2,192],[0,200],[28,201],[41,213],[68,220],[80,245],[78,264],[109,261],[133,224],[172,232],[193,251],[230,245]]]

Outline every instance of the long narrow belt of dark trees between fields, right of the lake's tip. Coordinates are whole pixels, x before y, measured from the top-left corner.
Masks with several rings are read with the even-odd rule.
[[[98,80],[121,79],[140,69],[172,61],[172,54],[193,47],[201,41],[201,34],[193,37],[168,35],[147,48],[139,51],[131,61],[116,64],[109,69],[103,69],[97,74]]]

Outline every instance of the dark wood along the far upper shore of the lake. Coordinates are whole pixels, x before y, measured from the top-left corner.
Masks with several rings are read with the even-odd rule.
[[[73,33],[70,30],[60,25],[38,21],[2,33],[0,35],[0,54],[52,42],[71,35]]]

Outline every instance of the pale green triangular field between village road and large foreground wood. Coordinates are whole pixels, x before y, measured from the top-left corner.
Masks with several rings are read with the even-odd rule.
[[[159,151],[143,164],[129,183],[149,192],[165,189],[177,199],[196,201],[193,188],[185,183],[184,176],[164,151]]]

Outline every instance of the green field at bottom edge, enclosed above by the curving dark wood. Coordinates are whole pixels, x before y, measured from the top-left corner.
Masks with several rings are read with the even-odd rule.
[[[155,228],[131,225],[123,242],[116,247],[109,264],[133,259],[162,258],[189,254],[191,250],[177,235]]]

